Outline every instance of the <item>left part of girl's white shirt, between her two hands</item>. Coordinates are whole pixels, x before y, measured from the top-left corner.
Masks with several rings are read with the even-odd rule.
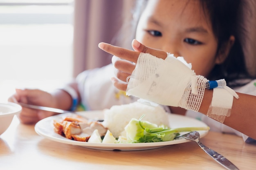
[[[113,105],[129,104],[137,101],[136,97],[126,96],[112,84],[115,77],[113,65],[83,71],[76,77],[81,94],[81,103],[86,110],[102,110]]]

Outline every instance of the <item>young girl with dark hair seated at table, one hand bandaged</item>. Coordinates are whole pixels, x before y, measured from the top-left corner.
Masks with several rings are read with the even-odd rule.
[[[135,51],[126,51],[125,49],[102,44],[101,48],[115,54],[117,48],[118,51],[120,50],[124,54],[117,55],[119,54],[117,53],[116,55],[118,57],[134,63],[137,62],[140,52],[151,53],[151,51],[147,51],[149,47],[161,49],[165,52],[162,53],[163,51],[160,51],[160,53],[159,51],[155,52],[153,50],[152,54],[162,58],[166,57],[166,52],[173,53],[175,56],[182,56],[186,62],[192,64],[192,69],[197,75],[203,75],[210,80],[225,78],[230,87],[242,86],[247,83],[245,82],[246,79],[254,79],[255,73],[248,72],[247,70],[243,51],[237,37],[237,30],[233,29],[236,28],[237,16],[235,14],[239,7],[239,3],[235,0],[218,0],[218,2],[216,0],[149,0],[143,7],[145,9],[139,18],[136,39],[148,48],[141,50],[140,48],[143,46],[139,44],[136,47],[136,44],[138,44],[136,41],[133,44]],[[158,52],[160,55],[158,55]],[[131,55],[126,57],[126,53]],[[113,58],[113,62],[115,62],[115,57]],[[135,68],[135,64],[124,60],[116,61],[115,66],[119,71],[122,71],[115,73],[124,82],[126,82],[126,77]],[[46,93],[40,90],[17,89],[17,93],[13,97],[18,102],[65,110],[72,108],[72,104],[76,105],[76,99],[90,110],[110,108],[112,105],[137,101],[136,97],[127,97],[125,93],[118,91],[112,86],[110,77],[113,76],[112,65],[109,65],[81,73],[76,78],[76,82],[69,84],[69,86],[63,89],[58,89],[54,93]],[[236,82],[236,78],[245,80],[243,82]],[[115,86],[120,90],[126,91],[126,84],[119,84],[115,81]],[[247,86],[254,88],[253,82]],[[249,90],[243,91],[243,88],[240,89],[242,89],[241,92],[243,93],[256,95],[256,93],[251,93]],[[209,93],[206,91],[205,95],[211,96],[211,91]],[[239,96],[240,101],[242,95],[239,94]],[[204,96],[199,110],[202,113],[205,113],[207,106],[209,107],[209,103],[211,102],[206,99],[211,99],[211,97]],[[252,100],[249,102],[252,102]],[[234,104],[232,111],[236,110],[234,109],[235,106]],[[191,110],[186,111],[180,107],[166,108],[172,113],[196,114]],[[53,113],[23,108],[19,117],[23,123],[34,123],[50,115],[53,115]],[[202,114],[198,115],[201,117]],[[240,130],[240,122],[231,119],[234,115],[232,113],[229,119],[227,118],[225,120],[225,124]],[[245,124],[247,126],[243,126],[245,130],[240,131],[244,133],[246,131],[250,132],[247,135],[255,137],[251,134],[253,132],[250,130],[253,128],[248,127],[251,126],[250,121],[255,120],[252,116],[249,120],[243,121],[248,124]],[[201,119],[204,120],[204,117],[201,117]],[[228,120],[230,120],[230,124],[227,123]],[[208,122],[208,119],[205,121],[207,121],[207,124],[211,123]],[[232,125],[234,122],[236,126]],[[208,124],[212,130],[227,132],[227,128],[228,132],[236,132],[223,124],[216,125],[215,123],[212,125]]]

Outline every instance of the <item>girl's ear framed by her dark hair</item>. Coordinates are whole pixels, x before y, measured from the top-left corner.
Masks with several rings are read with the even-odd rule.
[[[218,55],[216,57],[216,64],[222,64],[227,56],[229,55],[229,51],[231,49],[231,47],[233,46],[235,42],[235,37],[234,35],[231,35],[229,38],[229,41],[225,44],[222,45],[222,47],[220,47],[220,50],[218,51]]]

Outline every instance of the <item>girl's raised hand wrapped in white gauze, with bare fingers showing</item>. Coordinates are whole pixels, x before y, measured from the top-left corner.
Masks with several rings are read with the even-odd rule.
[[[202,101],[204,88],[196,88],[197,82],[204,84],[207,79],[204,79],[202,76],[196,76],[191,70],[191,65],[186,64],[182,57],[179,57],[178,59],[174,56],[166,58],[167,53],[165,51],[150,49],[136,40],[132,42],[132,47],[135,51],[112,46],[106,43],[99,44],[99,48],[115,55],[112,58],[112,62],[115,68],[117,68],[116,76],[119,80],[114,78],[114,85],[117,88],[126,91],[128,95],[134,95],[157,104],[180,106],[186,109],[189,109],[188,107],[191,106],[190,109],[198,110],[200,102]],[[146,56],[149,55],[148,53],[151,54],[150,58],[152,60],[150,62],[153,63],[143,63],[143,61],[141,63],[141,60],[138,59],[139,56],[142,58],[144,56],[144,59],[148,59]],[[133,63],[137,63],[136,68]],[[143,67],[148,68],[148,70],[144,70],[143,72],[146,76],[143,75],[143,77],[135,77],[135,73],[142,73],[141,70],[139,70],[142,64],[144,64]],[[169,64],[173,66],[170,66]],[[154,74],[156,70],[158,79],[152,79],[154,75],[148,79],[149,75]],[[133,75],[131,75],[132,73]],[[139,76],[141,76],[141,74],[139,74]],[[128,81],[127,77],[129,77]],[[146,80],[144,84],[137,86],[144,80]],[[193,82],[193,89],[191,88],[191,82]],[[155,83],[157,83],[156,86]],[[140,88],[142,88],[142,90]],[[147,91],[150,91],[150,93]],[[185,101],[188,100],[188,97],[193,99],[195,98],[194,95],[191,95],[191,91],[196,97],[198,97],[198,99],[196,99],[198,104],[190,104],[188,101]],[[186,92],[186,97],[184,96],[184,92]],[[194,106],[196,106],[196,108]]]

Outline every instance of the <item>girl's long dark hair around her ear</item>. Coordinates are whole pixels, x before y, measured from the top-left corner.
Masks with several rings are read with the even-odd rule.
[[[216,65],[207,77],[210,80],[225,79],[231,87],[241,86],[237,79],[252,79],[247,72],[245,56],[238,36],[240,0],[200,0],[204,12],[209,15],[213,33],[218,40],[217,53],[222,52],[231,35],[235,42],[227,59]],[[245,83],[245,82],[244,82]]]

